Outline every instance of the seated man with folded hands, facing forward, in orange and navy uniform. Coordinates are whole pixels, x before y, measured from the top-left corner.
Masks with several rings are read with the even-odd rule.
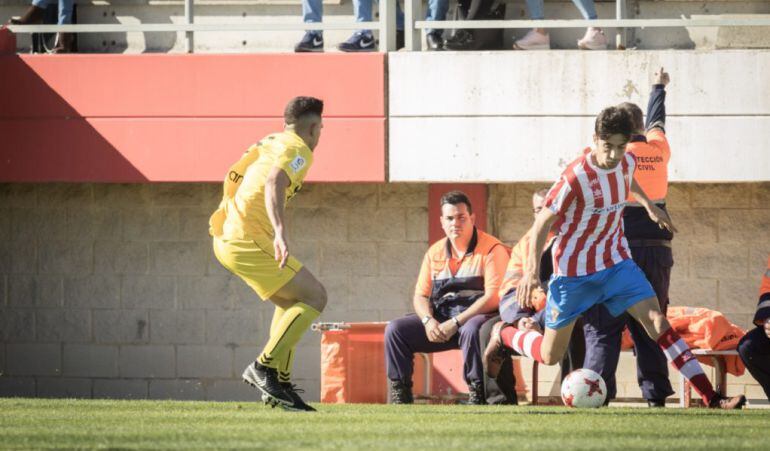
[[[410,404],[414,354],[461,349],[469,403],[484,400],[479,329],[496,314],[497,291],[508,251],[497,238],[478,230],[464,193],[441,197],[441,227],[446,238],[434,243],[422,262],[414,311],[385,329],[385,366],[390,402]]]

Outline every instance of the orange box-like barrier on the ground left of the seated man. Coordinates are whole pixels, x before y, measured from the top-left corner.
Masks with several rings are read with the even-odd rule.
[[[321,323],[321,402],[379,403],[388,400],[384,335],[387,322]],[[331,327],[324,330],[325,327]],[[422,393],[425,364],[415,358],[414,393]]]

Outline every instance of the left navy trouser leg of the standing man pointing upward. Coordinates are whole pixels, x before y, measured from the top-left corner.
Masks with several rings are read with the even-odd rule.
[[[607,384],[607,401],[617,395],[615,372],[620,360],[620,342],[625,327],[624,317],[610,315],[603,305],[595,305],[583,313],[586,358],[583,368],[596,371]]]

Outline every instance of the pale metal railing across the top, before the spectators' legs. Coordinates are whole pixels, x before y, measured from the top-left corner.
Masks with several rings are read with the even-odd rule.
[[[372,29],[380,32],[381,52],[396,50],[396,1],[380,0],[377,22],[343,23],[302,23],[277,21],[272,23],[196,24],[193,0],[184,1],[185,23],[183,24],[78,24],[78,25],[9,25],[14,33],[129,33],[129,32],[184,32],[185,47],[192,53],[195,47],[195,33],[217,31],[300,31],[300,30],[360,30]],[[404,0],[404,41],[408,51],[421,49],[422,35],[426,29],[527,29],[527,28],[584,28],[602,27],[618,30],[616,45],[626,46],[626,28],[673,28],[673,27],[756,27],[770,26],[770,17],[713,17],[697,19],[628,19],[626,0],[616,0],[615,19],[598,20],[457,20],[426,21],[422,0]]]

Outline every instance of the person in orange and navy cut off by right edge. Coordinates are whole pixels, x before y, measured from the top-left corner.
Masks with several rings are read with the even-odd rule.
[[[754,328],[738,343],[738,354],[749,373],[759,382],[770,401],[770,256],[759,287],[759,304],[754,314]]]

